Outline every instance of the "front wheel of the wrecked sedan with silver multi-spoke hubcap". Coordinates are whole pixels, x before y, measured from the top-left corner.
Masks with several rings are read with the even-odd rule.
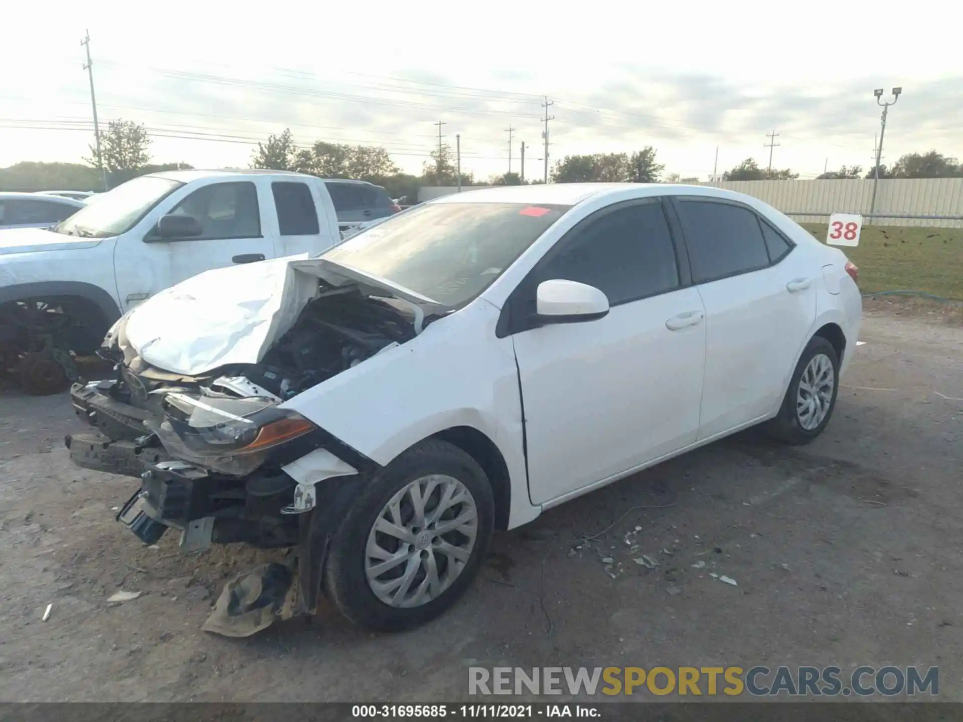
[[[452,606],[488,551],[495,504],[481,466],[443,441],[404,451],[366,480],[331,539],[327,596],[375,630],[417,627]]]

